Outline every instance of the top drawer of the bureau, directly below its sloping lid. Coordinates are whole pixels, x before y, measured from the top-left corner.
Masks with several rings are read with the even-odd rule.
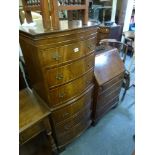
[[[124,73],[121,74],[121,75],[118,75],[118,76],[114,77],[110,81],[108,81],[105,84],[103,84],[102,86],[100,86],[100,88],[99,88],[99,94],[102,93],[103,91],[105,91],[106,89],[110,88],[112,85],[114,85],[118,81],[123,80],[123,77],[124,77]]]

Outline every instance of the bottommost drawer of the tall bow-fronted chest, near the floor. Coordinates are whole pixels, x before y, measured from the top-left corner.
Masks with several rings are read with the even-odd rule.
[[[74,126],[71,130],[66,132],[64,135],[57,135],[57,141],[58,146],[63,146],[71,142],[73,139],[75,139],[77,136],[80,136],[80,134],[87,129],[91,124],[91,120],[82,120],[79,124]]]

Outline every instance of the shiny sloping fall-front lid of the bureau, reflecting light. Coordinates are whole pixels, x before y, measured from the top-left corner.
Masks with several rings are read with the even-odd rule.
[[[112,49],[95,56],[94,73],[99,86],[121,74],[124,70],[124,63],[117,49]]]

